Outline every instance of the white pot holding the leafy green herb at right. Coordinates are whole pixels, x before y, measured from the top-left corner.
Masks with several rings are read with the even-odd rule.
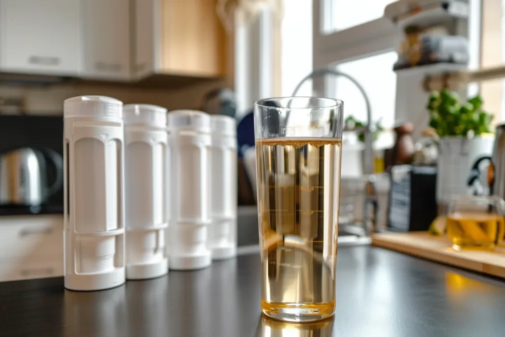
[[[467,180],[475,161],[491,156],[494,135],[440,138],[437,203],[448,204],[451,197],[469,194]]]

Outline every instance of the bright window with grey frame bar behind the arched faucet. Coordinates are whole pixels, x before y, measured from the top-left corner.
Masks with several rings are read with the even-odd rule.
[[[314,69],[335,68],[355,78],[366,91],[372,122],[391,128],[395,120],[393,64],[398,29],[383,18],[393,0],[314,0]],[[330,14],[328,14],[330,13]],[[319,15],[321,14],[321,15]],[[344,101],[345,116],[367,122],[365,100],[348,79],[328,75],[314,83],[317,92]]]

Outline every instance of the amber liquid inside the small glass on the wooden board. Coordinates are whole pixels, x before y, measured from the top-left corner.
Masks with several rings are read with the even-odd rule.
[[[505,231],[501,215],[484,212],[455,212],[447,216],[447,235],[455,249],[493,249]]]

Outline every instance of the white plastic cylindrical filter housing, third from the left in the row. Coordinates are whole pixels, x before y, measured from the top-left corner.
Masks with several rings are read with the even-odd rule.
[[[200,111],[177,110],[168,114],[172,151],[170,269],[199,269],[212,262],[207,247],[210,124],[209,114]]]

